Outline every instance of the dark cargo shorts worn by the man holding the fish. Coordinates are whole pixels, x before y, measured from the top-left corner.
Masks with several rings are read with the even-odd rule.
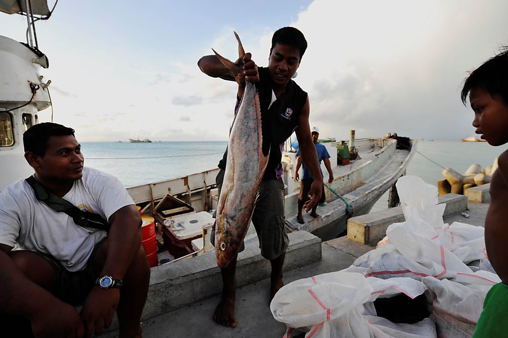
[[[224,181],[224,170],[220,170],[215,178],[218,196]],[[289,246],[289,238],[285,228],[284,215],[284,183],[282,179],[262,181],[259,187],[259,198],[252,214],[252,224],[256,228],[261,255],[266,259],[275,259],[283,254]],[[215,218],[215,214],[213,217]],[[215,244],[215,223],[210,232],[210,242]],[[242,242],[239,252],[245,246]]]

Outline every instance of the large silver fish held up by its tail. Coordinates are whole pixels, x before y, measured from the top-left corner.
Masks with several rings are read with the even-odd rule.
[[[239,59],[245,55],[240,38]],[[215,52],[219,60],[236,77],[242,65]],[[256,205],[259,186],[268,164],[268,154],[263,154],[261,133],[261,109],[256,86],[246,81],[238,113],[231,128],[228,143],[226,173],[217,205],[215,229],[215,255],[217,265],[226,267],[238,253],[247,232]]]

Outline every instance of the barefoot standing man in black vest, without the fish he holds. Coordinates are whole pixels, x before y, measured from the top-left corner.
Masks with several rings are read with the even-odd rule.
[[[229,70],[215,55],[203,56],[198,61],[201,71],[206,75],[238,83],[236,109],[240,106],[239,100],[243,96],[245,81],[255,83],[259,93],[263,150],[266,153],[265,147],[269,146],[270,157],[260,185],[260,196],[252,214],[252,224],[258,233],[261,254],[270,260],[272,267],[270,299],[283,286],[282,265],[289,245],[285,232],[283,168],[280,161],[283,143],[293,131],[296,130],[303,161],[315,178],[309,192],[311,199],[305,205],[307,212],[321,198],[323,187],[315,147],[309,133],[310,108],[307,93],[292,80],[306,48],[307,42],[301,31],[294,27],[284,27],[273,35],[268,67],[258,67],[251,60],[251,54],[245,53],[243,60],[237,60],[237,63],[243,63],[244,72],[233,79],[228,74]],[[218,164],[221,169],[216,178],[219,194],[224,180],[226,156],[227,151]],[[213,236],[212,231],[212,243]],[[218,324],[232,327],[236,326],[235,269],[236,257],[227,267],[221,268],[223,296],[213,315],[213,320]]]

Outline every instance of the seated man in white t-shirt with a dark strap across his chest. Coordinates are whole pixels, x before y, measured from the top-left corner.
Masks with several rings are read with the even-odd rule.
[[[36,337],[90,337],[108,327],[116,311],[119,337],[141,337],[150,268],[132,198],[113,176],[83,167],[74,129],[36,124],[23,142],[34,184],[111,227],[107,233],[77,225],[38,200],[24,179],[2,191],[0,335],[11,329],[25,336],[23,328],[29,335],[31,327]],[[15,324],[20,321],[25,324]]]

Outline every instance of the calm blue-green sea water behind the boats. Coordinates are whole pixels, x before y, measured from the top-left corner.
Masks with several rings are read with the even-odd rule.
[[[125,187],[163,181],[217,166],[227,146],[221,142],[84,142],[85,165],[116,176]],[[406,175],[415,175],[437,185],[443,168],[464,173],[474,163],[483,168],[507,149],[487,142],[427,141],[417,143],[417,153],[407,166]],[[388,193],[373,210],[386,209]]]

